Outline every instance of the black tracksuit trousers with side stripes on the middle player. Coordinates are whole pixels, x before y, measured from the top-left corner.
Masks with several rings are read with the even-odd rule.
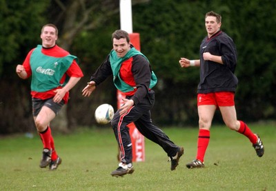
[[[130,97],[126,97],[130,99]],[[148,95],[139,104],[132,106],[126,114],[119,115],[119,110],[115,113],[111,125],[115,133],[119,148],[121,150],[121,162],[132,163],[132,144],[129,128],[131,122],[144,137],[150,139],[161,146],[168,154],[174,157],[177,154],[178,146],[175,145],[168,136],[157,126],[152,124],[150,109],[155,103],[155,92],[150,90]]]

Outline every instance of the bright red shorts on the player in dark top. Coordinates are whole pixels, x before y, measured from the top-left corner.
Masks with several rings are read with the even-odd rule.
[[[214,92],[208,94],[197,94],[197,106],[233,106],[235,105],[234,97],[235,92]]]

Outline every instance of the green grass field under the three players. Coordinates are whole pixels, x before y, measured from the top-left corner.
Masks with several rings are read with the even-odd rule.
[[[206,168],[188,169],[185,164],[196,154],[197,128],[164,128],[172,141],[185,148],[177,170],[170,171],[166,153],[146,139],[146,161],[134,163],[135,172],[119,178],[110,176],[117,168],[111,129],[56,134],[63,163],[53,172],[39,168],[39,137],[0,137],[0,190],[276,190],[276,124],[250,124],[250,128],[264,142],[262,158],[246,137],[214,126]]]

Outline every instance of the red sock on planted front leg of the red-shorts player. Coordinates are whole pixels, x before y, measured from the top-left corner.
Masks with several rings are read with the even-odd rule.
[[[197,139],[197,159],[204,162],[204,155],[210,141],[209,130],[199,130],[199,137]]]

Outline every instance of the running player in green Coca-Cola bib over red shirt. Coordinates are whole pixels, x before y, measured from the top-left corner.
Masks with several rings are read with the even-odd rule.
[[[30,50],[23,65],[17,65],[16,72],[21,79],[32,76],[32,114],[43,143],[39,166],[46,168],[49,165],[50,170],[56,170],[61,158],[55,150],[50,121],[68,102],[69,90],[83,77],[83,73],[77,57],[57,46],[58,30],[55,25],[43,26],[40,37],[42,46]]]

